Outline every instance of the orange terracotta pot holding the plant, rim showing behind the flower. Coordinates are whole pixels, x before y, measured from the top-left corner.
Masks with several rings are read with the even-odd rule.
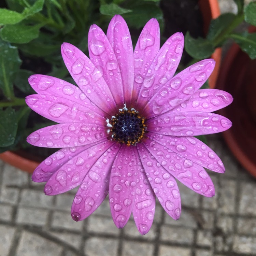
[[[218,0],[199,0],[198,3],[204,20],[203,30],[206,33],[211,19],[217,18],[220,15]],[[221,48],[218,48],[212,55],[212,58],[216,61],[216,65],[213,73],[209,78],[210,88],[214,88],[216,84],[216,78],[221,62],[221,54]],[[0,154],[0,159],[28,173],[32,173],[34,169],[39,165],[39,162],[37,161],[27,159],[20,156],[20,154],[10,151]]]

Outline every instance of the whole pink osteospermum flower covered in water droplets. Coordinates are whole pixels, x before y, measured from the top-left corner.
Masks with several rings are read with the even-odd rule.
[[[90,58],[62,44],[63,60],[78,87],[56,77],[29,77],[38,94],[28,96],[27,104],[59,124],[33,132],[28,142],[62,148],[38,166],[32,180],[47,182],[46,195],[80,186],[71,208],[75,221],[93,213],[109,193],[115,225],[123,228],[132,213],[145,234],[156,197],[172,218],[180,217],[176,179],[196,193],[214,196],[204,168],[223,173],[223,163],[193,136],[228,129],[231,122],[211,112],[230,104],[232,97],[199,89],[213,71],[213,59],[174,76],[183,45],[178,32],[159,49],[159,25],[153,18],[133,52],[127,24],[117,15],[106,35],[90,27]]]

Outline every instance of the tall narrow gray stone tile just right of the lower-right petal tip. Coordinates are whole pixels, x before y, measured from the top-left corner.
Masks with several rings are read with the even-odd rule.
[[[236,182],[231,180],[221,180],[221,193],[219,196],[219,211],[222,213],[233,213],[236,199]]]

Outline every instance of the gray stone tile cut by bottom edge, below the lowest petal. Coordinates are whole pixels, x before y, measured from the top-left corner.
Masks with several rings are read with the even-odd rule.
[[[142,242],[123,242],[122,255],[123,256],[153,256],[154,246],[150,243]]]

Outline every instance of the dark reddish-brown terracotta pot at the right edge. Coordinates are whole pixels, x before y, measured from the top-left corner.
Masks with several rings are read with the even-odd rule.
[[[256,27],[250,29],[256,32]],[[218,77],[218,89],[228,91],[234,101],[219,111],[233,123],[223,132],[231,152],[256,177],[256,60],[251,60],[237,44],[229,49]]]

